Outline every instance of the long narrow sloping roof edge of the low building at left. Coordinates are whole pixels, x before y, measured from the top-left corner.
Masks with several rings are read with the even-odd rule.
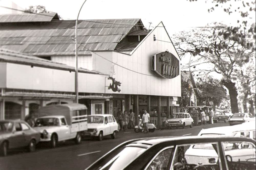
[[[24,53],[16,51],[10,51],[0,48],[0,62],[17,63],[24,65],[33,65],[38,67],[75,71],[75,68],[66,64],[56,63],[49,60],[41,59],[35,56],[30,56]],[[102,74],[98,71],[87,70],[83,68],[78,69],[79,72],[90,73],[90,74]],[[102,74],[105,75],[105,74]]]

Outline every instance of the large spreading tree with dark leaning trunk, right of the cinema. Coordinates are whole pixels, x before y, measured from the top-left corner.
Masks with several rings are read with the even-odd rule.
[[[182,31],[175,36],[179,42],[177,49],[180,55],[190,53],[199,56],[202,62],[212,65],[212,69],[207,73],[216,72],[222,75],[220,82],[229,91],[231,110],[234,113],[239,111],[236,82],[241,77],[243,66],[255,58],[255,39],[232,27],[228,30],[225,28],[226,26],[193,29]],[[230,39],[230,32],[237,34],[238,39]],[[240,38],[242,35],[245,37]],[[246,39],[246,44],[243,44],[243,39]],[[186,44],[184,47],[180,46],[183,42]]]

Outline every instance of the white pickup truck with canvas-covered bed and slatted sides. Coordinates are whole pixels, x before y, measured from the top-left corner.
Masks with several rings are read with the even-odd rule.
[[[79,144],[87,131],[87,107],[82,104],[45,106],[39,109],[34,129],[41,133],[40,142],[55,148],[60,141],[74,139]]]

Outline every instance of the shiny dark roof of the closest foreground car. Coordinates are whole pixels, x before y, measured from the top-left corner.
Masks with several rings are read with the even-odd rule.
[[[138,139],[136,141],[131,142],[129,145],[157,145],[166,142],[173,142],[173,145],[176,144],[186,144],[186,143],[204,143],[204,142],[219,142],[219,141],[254,141],[249,138],[241,138],[241,137],[229,137],[229,136],[170,136],[170,137],[151,137],[151,138],[144,138]],[[201,141],[200,141],[201,140]],[[255,141],[254,141],[255,142]]]

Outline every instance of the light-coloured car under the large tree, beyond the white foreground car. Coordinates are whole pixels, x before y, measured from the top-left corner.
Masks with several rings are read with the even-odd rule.
[[[234,113],[229,119],[229,125],[241,124],[244,122],[255,121],[250,113]]]

